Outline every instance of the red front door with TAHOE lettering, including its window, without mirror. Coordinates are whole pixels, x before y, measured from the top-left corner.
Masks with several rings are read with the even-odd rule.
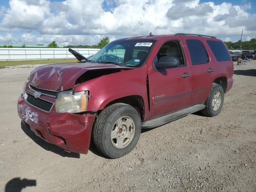
[[[186,108],[192,95],[190,67],[185,60],[180,40],[170,40],[156,45],[156,48],[157,46],[154,62],[163,56],[176,56],[180,65],[158,70],[154,67],[154,62],[148,63],[150,118]]]

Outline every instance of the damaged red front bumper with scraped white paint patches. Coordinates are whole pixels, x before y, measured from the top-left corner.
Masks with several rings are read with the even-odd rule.
[[[96,114],[46,113],[27,104],[22,95],[17,109],[22,121],[46,142],[87,154]]]

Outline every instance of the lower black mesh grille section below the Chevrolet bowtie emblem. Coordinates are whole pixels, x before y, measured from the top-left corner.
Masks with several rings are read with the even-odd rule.
[[[29,93],[26,93],[26,101],[31,104],[32,106],[44,110],[46,112],[49,112],[52,108],[53,103],[42,100],[40,98],[34,98],[33,95],[30,95]]]

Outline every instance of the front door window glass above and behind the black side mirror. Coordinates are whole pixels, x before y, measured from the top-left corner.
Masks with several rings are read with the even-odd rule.
[[[158,61],[163,56],[175,56],[179,59],[179,66],[186,66],[180,42],[178,41],[168,41],[164,43],[158,51],[154,62]]]

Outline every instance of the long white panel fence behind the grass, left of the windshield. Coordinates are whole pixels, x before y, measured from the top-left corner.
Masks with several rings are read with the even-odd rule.
[[[73,48],[85,57],[94,55],[100,49]],[[68,48],[0,48],[0,60],[38,60],[75,58]]]

